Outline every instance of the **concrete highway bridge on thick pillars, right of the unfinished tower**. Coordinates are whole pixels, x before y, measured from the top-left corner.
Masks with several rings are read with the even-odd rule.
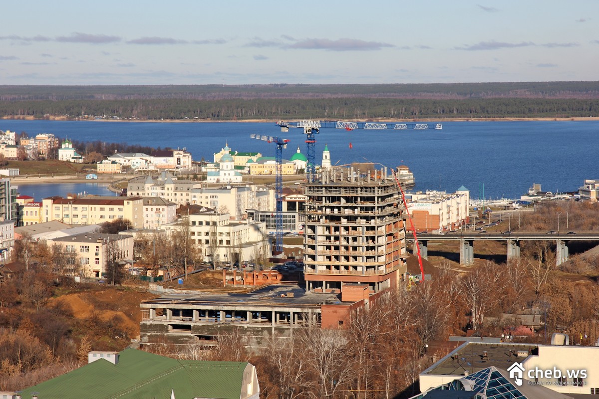
[[[474,264],[474,241],[494,240],[507,242],[507,258],[520,256],[520,243],[522,241],[555,241],[556,264],[562,264],[568,260],[568,242],[571,241],[597,241],[599,232],[449,232],[444,234],[417,234],[420,246],[420,255],[428,259],[429,241],[458,241],[459,242],[459,264],[465,266]],[[410,237],[410,236],[408,236]],[[414,239],[409,239],[414,243]],[[416,254],[416,247],[413,247]]]

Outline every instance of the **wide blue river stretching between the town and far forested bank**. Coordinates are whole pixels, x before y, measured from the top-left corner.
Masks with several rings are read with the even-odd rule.
[[[185,147],[195,160],[213,160],[213,153],[225,142],[233,150],[274,156],[274,144],[249,137],[259,133],[290,139],[283,150],[286,159],[298,145],[305,154],[302,130],[281,133],[274,123],[2,120],[0,129],[25,131],[29,136],[46,132],[81,141]],[[328,144],[333,164],[403,164],[414,172],[417,190],[455,191],[465,185],[474,199],[482,196],[482,184],[486,198],[515,198],[534,182],[541,183],[543,190],[574,191],[585,178],[599,178],[593,155],[599,146],[598,121],[444,122],[443,130],[323,128],[316,139],[317,163]]]

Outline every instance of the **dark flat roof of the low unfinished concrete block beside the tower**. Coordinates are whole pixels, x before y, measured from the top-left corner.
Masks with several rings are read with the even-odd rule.
[[[293,297],[288,297],[288,293],[293,293]],[[285,296],[282,296],[283,294]],[[341,304],[339,294],[310,293],[297,285],[273,284],[251,293],[207,293],[199,290],[176,290],[144,301],[141,303],[141,307],[163,307],[163,305],[176,305],[176,307],[206,305],[320,307],[322,304]]]

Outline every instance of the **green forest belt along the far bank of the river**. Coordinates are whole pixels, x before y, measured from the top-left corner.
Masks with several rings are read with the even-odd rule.
[[[0,101],[0,117],[66,116],[141,120],[368,120],[599,117],[599,99],[581,98],[310,98],[114,99]]]

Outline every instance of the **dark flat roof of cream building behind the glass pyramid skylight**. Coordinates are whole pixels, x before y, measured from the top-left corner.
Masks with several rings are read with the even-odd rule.
[[[422,374],[461,376],[465,371],[476,373],[483,368],[495,366],[507,370],[518,358],[518,351],[527,351],[529,354],[537,351],[539,345],[532,343],[482,343],[467,342],[453,350],[449,355],[427,368]],[[487,357],[483,357],[483,352]]]

